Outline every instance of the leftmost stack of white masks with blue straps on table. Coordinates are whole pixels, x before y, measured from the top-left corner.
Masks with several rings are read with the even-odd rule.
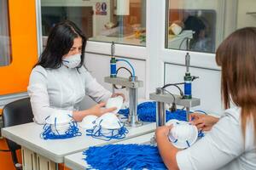
[[[67,139],[80,136],[78,124],[68,114],[53,112],[45,119],[43,139]]]

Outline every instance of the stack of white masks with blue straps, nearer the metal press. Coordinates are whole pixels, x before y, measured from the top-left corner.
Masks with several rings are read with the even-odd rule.
[[[111,139],[124,139],[127,128],[114,113],[105,113],[98,117],[94,122],[95,124],[91,129],[86,130],[86,135],[92,136],[96,139],[111,140]]]

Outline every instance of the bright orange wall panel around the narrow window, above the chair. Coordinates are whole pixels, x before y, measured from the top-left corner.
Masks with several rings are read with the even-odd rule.
[[[32,65],[38,59],[34,0],[9,0],[12,63],[0,67],[0,95],[26,92]]]

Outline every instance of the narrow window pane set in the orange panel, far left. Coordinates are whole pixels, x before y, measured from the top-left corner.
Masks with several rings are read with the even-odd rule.
[[[8,0],[0,0],[0,66],[10,65],[12,62],[8,8]]]

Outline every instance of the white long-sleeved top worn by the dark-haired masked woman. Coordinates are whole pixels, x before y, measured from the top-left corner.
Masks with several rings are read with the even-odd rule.
[[[44,123],[45,118],[58,111],[72,115],[79,111],[85,94],[96,102],[107,101],[112,95],[82,66],[79,71],[62,65],[58,69],[33,68],[27,93],[32,104],[34,121]]]

